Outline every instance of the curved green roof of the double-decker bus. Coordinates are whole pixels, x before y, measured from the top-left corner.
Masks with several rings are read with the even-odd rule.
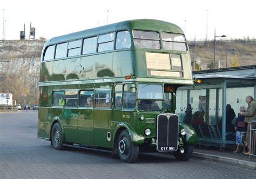
[[[88,30],[74,32],[74,33],[62,35],[59,37],[54,37],[48,40],[45,46],[58,44],[60,42],[65,42],[65,41],[81,39],[85,37],[92,37],[94,35],[109,33],[113,31],[131,30],[131,29],[141,29],[141,30],[157,29],[161,32],[173,32],[173,33],[184,34],[180,27],[169,22],[164,22],[162,20],[153,20],[153,19],[137,19],[137,20],[126,20],[119,23],[90,28]]]

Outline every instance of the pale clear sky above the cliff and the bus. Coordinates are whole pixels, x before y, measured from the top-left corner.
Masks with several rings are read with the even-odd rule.
[[[206,33],[207,39],[212,40],[214,28],[216,36],[225,34],[226,39],[255,39],[255,8],[255,0],[1,0],[0,39],[19,39],[24,24],[28,39],[30,22],[36,28],[36,38],[50,39],[129,19],[158,19],[176,24],[188,40],[205,40]]]

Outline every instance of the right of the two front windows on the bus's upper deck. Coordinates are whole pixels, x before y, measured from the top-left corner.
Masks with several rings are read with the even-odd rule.
[[[186,40],[183,34],[161,33],[164,49],[170,51],[187,51]]]

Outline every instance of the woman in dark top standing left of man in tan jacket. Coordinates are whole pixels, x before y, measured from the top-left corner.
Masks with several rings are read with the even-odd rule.
[[[240,107],[240,112],[245,111],[245,106]],[[246,138],[246,131],[247,131],[247,123],[244,122],[245,117],[242,116],[240,113],[238,113],[238,118],[237,121],[235,121],[235,131],[236,131],[236,144],[237,144],[237,149],[233,153],[238,153],[239,152],[239,147],[242,144],[242,138]],[[244,145],[244,150],[242,153],[246,153],[246,145]]]

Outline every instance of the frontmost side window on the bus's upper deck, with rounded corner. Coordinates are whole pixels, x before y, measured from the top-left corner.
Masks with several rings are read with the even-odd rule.
[[[129,31],[117,32],[116,49],[130,48],[131,36]]]

